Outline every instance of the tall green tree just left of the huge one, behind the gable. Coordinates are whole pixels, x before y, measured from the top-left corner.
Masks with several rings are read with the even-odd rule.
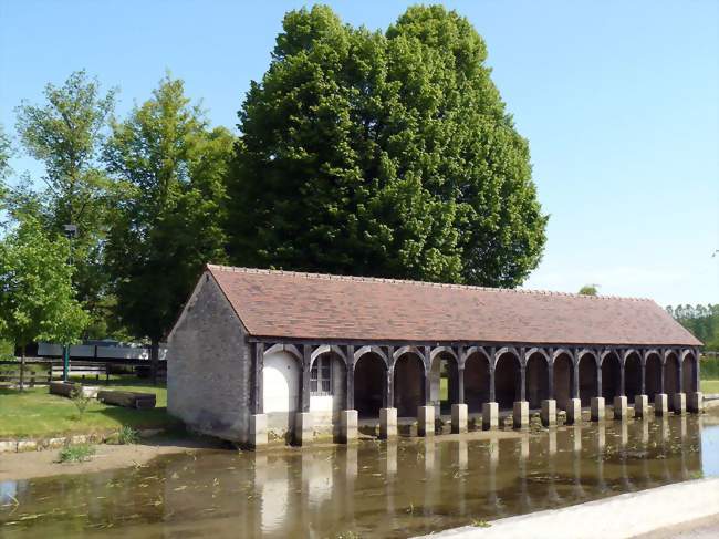
[[[225,259],[225,176],[233,138],[209,128],[179,80],[165,77],[153,97],[113,125],[105,148],[123,197],[107,241],[117,313],[139,338],[159,341],[208,261]]]

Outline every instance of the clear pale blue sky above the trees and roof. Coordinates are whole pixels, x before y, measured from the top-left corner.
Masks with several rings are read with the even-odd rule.
[[[404,2],[329,2],[385,29]],[[719,2],[458,1],[489,63],[551,214],[528,288],[719,302]],[[21,99],[86,69],[121,87],[118,112],[166,69],[235,129],[283,13],[303,2],[0,2],[0,122]],[[17,169],[37,172],[27,157]]]

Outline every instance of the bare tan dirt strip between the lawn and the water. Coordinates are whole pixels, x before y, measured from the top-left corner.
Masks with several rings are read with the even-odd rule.
[[[134,445],[95,446],[97,453],[86,463],[58,463],[60,449],[32,453],[0,454],[0,481],[32,479],[66,474],[88,474],[143,465],[159,455],[220,449],[218,443],[205,439],[144,440]]]

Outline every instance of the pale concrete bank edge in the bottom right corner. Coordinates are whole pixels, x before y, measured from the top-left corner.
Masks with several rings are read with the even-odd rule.
[[[719,478],[696,479],[561,509],[465,526],[421,538],[613,539],[633,538],[719,514]]]

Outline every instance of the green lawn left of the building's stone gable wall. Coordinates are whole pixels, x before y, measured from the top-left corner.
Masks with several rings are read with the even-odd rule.
[[[103,388],[105,384],[100,384]],[[112,406],[93,400],[81,421],[70,398],[51,395],[48,387],[0,390],[0,439],[37,438],[69,434],[117,431],[123,425],[133,428],[169,428],[177,421],[167,415],[167,390],[149,382],[128,379],[111,380],[107,388],[140,391],[157,395],[157,407],[134,410]]]

